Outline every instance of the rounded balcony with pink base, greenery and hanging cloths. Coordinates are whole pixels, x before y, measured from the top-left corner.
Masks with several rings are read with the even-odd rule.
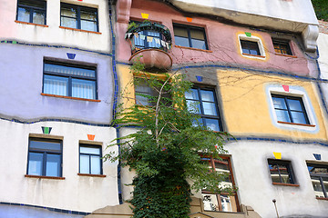
[[[132,22],[126,34],[131,45],[130,63],[138,60],[146,68],[169,69],[172,58],[168,54],[171,47],[171,35],[168,27],[145,21]]]

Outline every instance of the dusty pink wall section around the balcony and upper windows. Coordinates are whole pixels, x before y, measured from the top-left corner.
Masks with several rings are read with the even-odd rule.
[[[119,2],[119,1],[118,1]],[[148,0],[125,0],[125,10],[128,13],[127,4],[131,4],[129,10],[130,19],[143,20],[141,13],[149,14],[149,20],[166,25],[172,35],[172,48],[169,51],[173,64],[225,64],[231,66],[242,66],[247,68],[261,68],[261,70],[274,70],[290,74],[309,75],[308,60],[299,45],[292,40],[292,56],[282,56],[274,53],[272,35],[262,31],[254,31],[237,25],[225,25],[208,18],[193,17],[188,22],[185,15],[180,14],[168,5]],[[121,3],[123,4],[123,3]],[[121,5],[121,8],[123,6]],[[118,13],[122,9],[118,6]],[[128,17],[128,16],[126,16]],[[118,61],[128,62],[131,50],[128,41],[124,39],[127,31],[128,19],[118,21]],[[172,23],[182,25],[194,25],[204,27],[210,51],[201,51],[190,48],[175,46]],[[241,55],[238,34],[244,32],[257,35],[261,38],[266,58],[257,59]]]

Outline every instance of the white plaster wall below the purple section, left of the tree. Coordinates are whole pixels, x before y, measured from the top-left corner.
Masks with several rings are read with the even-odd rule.
[[[90,213],[107,205],[118,204],[118,163],[103,163],[107,177],[77,175],[79,140],[95,134],[95,141],[103,143],[103,154],[116,138],[116,130],[83,124],[45,122],[17,124],[0,120],[0,202],[42,205],[59,209]],[[29,134],[42,134],[41,126],[52,127],[51,134],[64,136],[62,176],[65,180],[27,178]]]

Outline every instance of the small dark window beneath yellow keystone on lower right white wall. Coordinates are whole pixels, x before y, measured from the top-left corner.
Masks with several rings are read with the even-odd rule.
[[[272,183],[294,184],[292,164],[289,161],[268,160]]]

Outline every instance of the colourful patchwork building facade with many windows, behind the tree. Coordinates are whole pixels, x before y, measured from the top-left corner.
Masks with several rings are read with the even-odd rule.
[[[101,157],[136,131],[111,127],[118,100],[148,104],[139,59],[186,74],[200,123],[234,136],[207,161],[238,190],[194,193],[190,217],[327,217],[326,40],[310,0],[0,5],[0,216],[132,215],[134,173]]]

